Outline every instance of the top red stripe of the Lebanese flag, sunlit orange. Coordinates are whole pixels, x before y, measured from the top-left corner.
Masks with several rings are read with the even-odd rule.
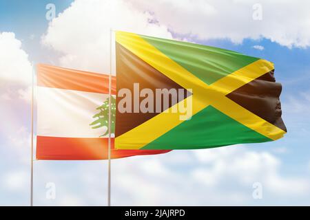
[[[37,65],[37,85],[109,94],[109,75],[39,64]],[[116,78],[112,76],[112,95],[115,94]]]

